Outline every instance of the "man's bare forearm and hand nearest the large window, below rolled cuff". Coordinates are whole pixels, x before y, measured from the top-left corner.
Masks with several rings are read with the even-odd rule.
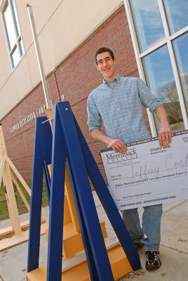
[[[156,117],[160,122],[159,143],[161,147],[167,147],[172,141],[172,134],[168,124],[166,110],[163,106],[156,108]]]

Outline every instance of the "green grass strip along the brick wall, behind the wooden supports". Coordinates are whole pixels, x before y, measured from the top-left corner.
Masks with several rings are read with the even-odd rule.
[[[31,188],[31,181],[26,181],[26,182],[27,182],[27,185],[29,186],[29,188]],[[23,194],[25,195],[27,202],[30,204],[31,198],[30,198],[29,194],[23,187],[22,183],[20,183],[20,181],[18,181],[18,184],[20,185],[20,188],[21,188]],[[14,190],[15,190],[15,200],[17,203],[19,215],[27,213],[28,211],[27,211],[27,208],[25,207],[25,203],[22,201],[22,198],[20,197],[20,194],[19,194],[18,190],[15,188],[15,186],[14,186]],[[6,193],[4,190],[4,185],[2,183],[1,188],[0,188],[0,199],[4,198],[5,196],[6,196]],[[46,186],[44,184],[43,184],[42,206],[43,207],[48,206],[48,198],[46,195]],[[3,202],[0,202],[0,221],[3,221],[7,218],[9,218],[9,214],[8,214],[8,207],[7,207],[6,200],[5,200]]]

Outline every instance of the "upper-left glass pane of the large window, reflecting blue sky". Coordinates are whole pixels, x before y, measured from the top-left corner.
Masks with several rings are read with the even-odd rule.
[[[131,7],[140,52],[164,37],[163,23],[157,0],[132,0]]]

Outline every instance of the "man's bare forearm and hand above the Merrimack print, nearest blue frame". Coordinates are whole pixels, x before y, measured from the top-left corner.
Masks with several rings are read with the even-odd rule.
[[[95,140],[106,143],[109,148],[112,148],[116,152],[125,153],[127,151],[126,144],[118,138],[109,138],[105,135],[105,133],[102,133],[102,131],[98,129],[93,129],[90,134],[93,136],[93,138],[95,138]]]

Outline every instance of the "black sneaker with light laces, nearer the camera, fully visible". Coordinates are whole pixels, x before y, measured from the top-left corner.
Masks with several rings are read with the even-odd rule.
[[[146,269],[156,270],[160,268],[161,261],[159,259],[159,251],[146,251]]]

